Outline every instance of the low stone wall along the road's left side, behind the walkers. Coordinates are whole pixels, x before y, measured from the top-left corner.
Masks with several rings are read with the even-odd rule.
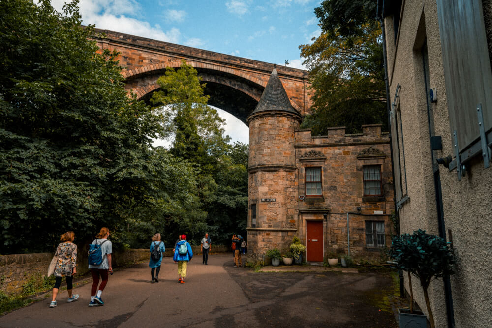
[[[192,246],[193,253],[200,253],[200,246]],[[226,246],[212,246],[214,253],[227,252],[230,248]],[[34,254],[11,254],[0,255],[0,291],[7,294],[20,294],[22,285],[29,281],[32,275],[41,278],[46,276],[48,266],[54,253],[34,253]],[[165,257],[172,257],[173,251],[168,250],[164,253]],[[149,249],[128,249],[126,251],[115,251],[112,256],[114,268],[124,267],[144,261],[150,258]],[[77,254],[77,274],[87,273],[87,249],[80,249]]]

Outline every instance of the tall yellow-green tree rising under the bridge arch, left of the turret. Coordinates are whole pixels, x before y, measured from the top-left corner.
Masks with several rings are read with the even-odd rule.
[[[188,227],[190,238],[198,241],[208,231],[220,242],[238,229],[246,232],[247,145],[228,144],[224,120],[207,105],[204,84],[184,60],[178,70],[167,68],[157,83],[161,90],[151,101],[164,117],[162,137],[174,137],[170,152],[198,170],[197,201],[207,216]]]

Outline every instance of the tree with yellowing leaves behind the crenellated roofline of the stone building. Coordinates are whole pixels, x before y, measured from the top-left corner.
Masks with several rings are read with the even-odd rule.
[[[381,28],[375,0],[325,0],[314,12],[321,35],[303,44],[309,69],[312,114],[302,124],[315,134],[331,126],[347,133],[361,125],[387,125]]]

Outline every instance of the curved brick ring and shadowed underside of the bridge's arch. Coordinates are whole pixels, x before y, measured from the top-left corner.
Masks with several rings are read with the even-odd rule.
[[[197,64],[193,65],[193,63],[188,62],[195,66],[198,75],[206,83],[205,94],[210,96],[209,104],[234,115],[246,124],[246,118],[258,104],[265,89],[264,82],[247,74],[233,74],[232,69],[219,70],[218,66],[202,68],[196,67]],[[126,89],[133,89],[139,99],[147,101],[152,93],[160,88],[156,82],[160,76],[164,75],[165,67],[179,66],[180,63],[169,62],[167,65],[156,64],[123,71],[123,76],[126,78]],[[292,106],[302,113],[297,104],[292,103]]]

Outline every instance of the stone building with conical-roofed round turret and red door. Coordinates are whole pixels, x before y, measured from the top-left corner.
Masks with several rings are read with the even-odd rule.
[[[375,124],[358,134],[336,127],[311,136],[301,122],[274,69],[247,118],[250,260],[286,250],[294,236],[307,246],[308,262],[329,252],[380,258],[393,232],[388,133]]]

